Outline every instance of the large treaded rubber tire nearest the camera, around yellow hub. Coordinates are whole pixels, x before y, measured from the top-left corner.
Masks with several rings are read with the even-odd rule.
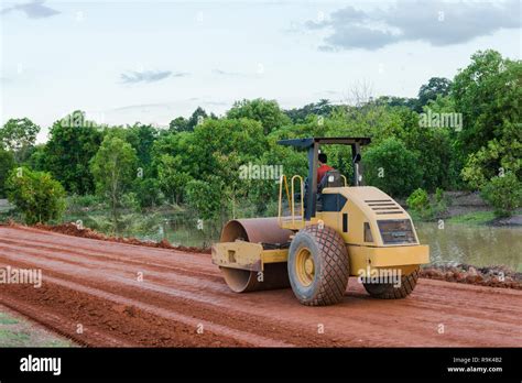
[[[314,259],[314,281],[304,286],[295,275],[298,251],[307,248]],[[289,250],[289,278],[295,296],[306,306],[335,305],[342,300],[350,262],[342,238],[331,228],[308,226],[297,232]]]

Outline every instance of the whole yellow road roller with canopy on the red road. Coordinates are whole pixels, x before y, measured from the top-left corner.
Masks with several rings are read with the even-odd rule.
[[[357,276],[376,298],[404,298],[415,288],[421,264],[429,262],[410,215],[385,193],[362,186],[361,147],[369,138],[282,140],[307,151],[308,175],[280,178],[279,214],[235,219],[213,245],[213,263],[236,293],[291,286],[307,306],[342,300]],[[328,171],[317,180],[322,145],[351,146],[354,179]],[[286,207],[283,208],[283,206]]]

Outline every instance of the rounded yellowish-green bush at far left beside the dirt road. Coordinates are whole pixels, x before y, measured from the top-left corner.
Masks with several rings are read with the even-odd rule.
[[[50,173],[14,168],[6,183],[8,199],[28,225],[58,220],[65,210],[65,190]]]

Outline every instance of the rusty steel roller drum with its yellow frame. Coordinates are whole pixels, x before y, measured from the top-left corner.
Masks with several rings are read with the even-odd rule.
[[[275,256],[287,254],[291,230],[281,229],[276,218],[251,218],[229,221],[221,231],[221,250],[227,262],[253,262],[255,270],[219,264],[225,282],[236,293],[285,288],[290,286],[286,262],[275,262]],[[248,242],[248,243],[244,243]],[[255,245],[253,245],[255,244]],[[235,250],[230,250],[235,249]],[[214,258],[214,250],[213,250]],[[272,259],[272,261],[268,261]],[[216,263],[216,262],[215,262]],[[260,269],[262,265],[262,270]]]

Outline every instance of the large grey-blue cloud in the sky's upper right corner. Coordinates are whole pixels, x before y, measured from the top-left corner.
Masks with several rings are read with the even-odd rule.
[[[308,21],[309,30],[326,30],[323,51],[378,50],[405,42],[423,41],[435,46],[454,45],[520,28],[520,2],[398,1],[388,9],[358,10],[351,6],[320,22]]]

